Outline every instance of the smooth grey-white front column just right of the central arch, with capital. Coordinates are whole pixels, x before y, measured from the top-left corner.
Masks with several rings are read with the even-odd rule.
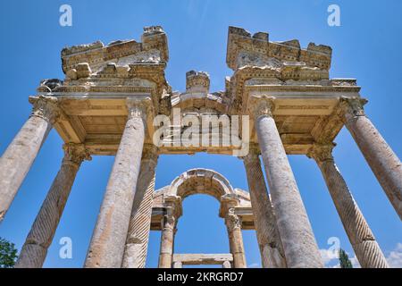
[[[253,113],[286,263],[289,268],[322,267],[314,233],[272,117],[272,107],[272,99],[261,98]]]

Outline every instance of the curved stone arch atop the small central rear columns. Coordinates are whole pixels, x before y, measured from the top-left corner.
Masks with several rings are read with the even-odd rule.
[[[219,172],[197,168],[183,172],[174,179],[169,194],[183,199],[194,194],[206,194],[221,201],[222,196],[234,195],[235,192]]]

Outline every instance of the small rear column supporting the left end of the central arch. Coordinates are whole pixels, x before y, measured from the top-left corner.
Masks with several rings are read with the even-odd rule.
[[[159,252],[159,268],[172,268],[174,234],[176,228],[176,216],[174,209],[169,206],[166,209],[166,214],[163,216],[162,231],[161,231],[161,248]]]

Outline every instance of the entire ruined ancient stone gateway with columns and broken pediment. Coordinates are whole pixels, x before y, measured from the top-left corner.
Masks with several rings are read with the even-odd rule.
[[[269,41],[230,27],[225,90],[210,92],[204,71],[188,71],[186,90],[164,77],[167,37],[159,26],[141,42],[66,47],[64,80],[42,80],[32,114],[0,159],[0,221],[46,136],[54,128],[64,157],[21,249],[17,267],[41,267],[80,164],[115,156],[85,267],[144,267],[150,229],[162,231],[160,267],[220,263],[245,267],[241,229],[255,228],[264,267],[322,267],[287,155],[313,158],[363,267],[387,267],[373,232],[332,157],[346,126],[402,217],[402,164],[364,114],[356,80],[330,79],[331,47]],[[155,191],[163,154],[239,156],[249,193],[212,170],[189,170]],[[260,156],[264,168],[260,164]],[[266,174],[268,186],[264,181]],[[206,193],[221,202],[230,254],[174,254],[181,199]]]

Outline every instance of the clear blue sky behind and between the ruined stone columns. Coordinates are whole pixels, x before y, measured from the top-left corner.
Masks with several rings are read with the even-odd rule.
[[[72,27],[59,25],[59,7],[71,4]],[[341,26],[327,25],[327,7],[339,4]],[[271,40],[297,38],[332,46],[331,78],[356,78],[365,107],[382,136],[400,157],[402,122],[402,21],[400,1],[3,1],[0,9],[0,154],[27,120],[39,80],[63,79],[60,51],[63,46],[105,44],[115,39],[139,40],[142,28],[162,25],[168,35],[170,61],[166,78],[175,90],[185,89],[185,72],[208,71],[211,90],[224,88],[232,71],[225,63],[228,26],[251,32],[268,31]],[[347,130],[336,139],[334,156],[357,204],[370,224],[382,250],[402,266],[402,228],[379,183]],[[63,157],[62,140],[53,130],[0,225],[0,236],[21,248]],[[331,202],[322,175],[306,156],[289,156],[297,184],[319,247],[338,237],[351,257],[353,250]],[[96,223],[112,156],[95,156],[85,162],[71,191],[63,217],[49,248],[46,267],[80,267]],[[156,189],[181,172],[204,167],[221,172],[233,187],[247,189],[242,162],[232,156],[161,156]],[[212,197],[191,196],[183,203],[175,251],[177,253],[228,253],[229,243],[219,203]],[[243,231],[247,264],[260,265],[255,231]],[[62,237],[71,237],[72,259],[58,256]],[[160,233],[152,231],[148,266],[157,265]],[[328,262],[334,265],[335,261]]]

